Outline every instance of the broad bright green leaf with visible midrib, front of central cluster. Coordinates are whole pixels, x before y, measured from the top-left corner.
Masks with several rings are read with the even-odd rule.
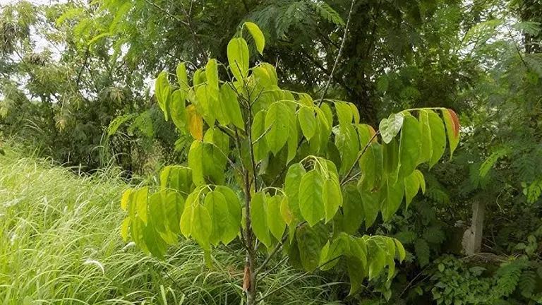
[[[307,172],[299,184],[299,209],[311,227],[325,216],[322,175],[315,169]]]

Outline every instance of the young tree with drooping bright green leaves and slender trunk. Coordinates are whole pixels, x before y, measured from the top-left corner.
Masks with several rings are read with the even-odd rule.
[[[386,266],[390,280],[395,258],[404,259],[402,244],[359,229],[379,213],[390,220],[403,198],[408,207],[425,190],[416,167],[440,160],[446,134],[452,155],[457,116],[450,109],[409,109],[375,131],[359,122],[354,104],[282,90],[272,65],[250,67],[243,30],[262,54],[262,32],[245,23],[228,44],[228,65],[210,59],[192,85],[186,63],[177,67],[176,83],[167,72],[158,76],[155,95],[166,119],[194,140],[188,167],[165,167],[159,189],[124,193],[124,239],[160,258],[182,234],[198,242],[207,263],[213,247],[239,239],[247,304],[256,303],[258,275],[281,250],[310,272],[343,260],[351,293]],[[226,171],[234,172],[233,181]]]

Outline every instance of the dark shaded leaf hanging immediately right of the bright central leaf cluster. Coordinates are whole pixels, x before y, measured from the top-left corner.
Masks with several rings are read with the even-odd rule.
[[[365,219],[365,213],[363,211],[363,200],[356,186],[347,184],[343,189],[344,202],[342,205],[343,210],[343,223],[342,229],[348,234],[356,234],[361,222]],[[378,208],[376,210],[378,213]],[[376,216],[375,216],[376,217]],[[374,221],[374,220],[373,220]]]

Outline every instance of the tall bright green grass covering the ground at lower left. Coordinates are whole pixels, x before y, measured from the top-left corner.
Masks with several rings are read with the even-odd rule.
[[[78,177],[13,149],[0,155],[2,304],[240,304],[241,251],[215,251],[214,270],[190,241],[165,261],[145,256],[120,237],[127,186],[110,176]],[[332,299],[318,278],[285,264],[258,288],[265,304]]]

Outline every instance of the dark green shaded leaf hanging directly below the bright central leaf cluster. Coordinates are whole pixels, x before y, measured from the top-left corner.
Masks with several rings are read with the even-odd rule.
[[[314,227],[301,225],[296,232],[296,240],[299,247],[299,256],[303,268],[313,272],[320,263],[320,237]]]

